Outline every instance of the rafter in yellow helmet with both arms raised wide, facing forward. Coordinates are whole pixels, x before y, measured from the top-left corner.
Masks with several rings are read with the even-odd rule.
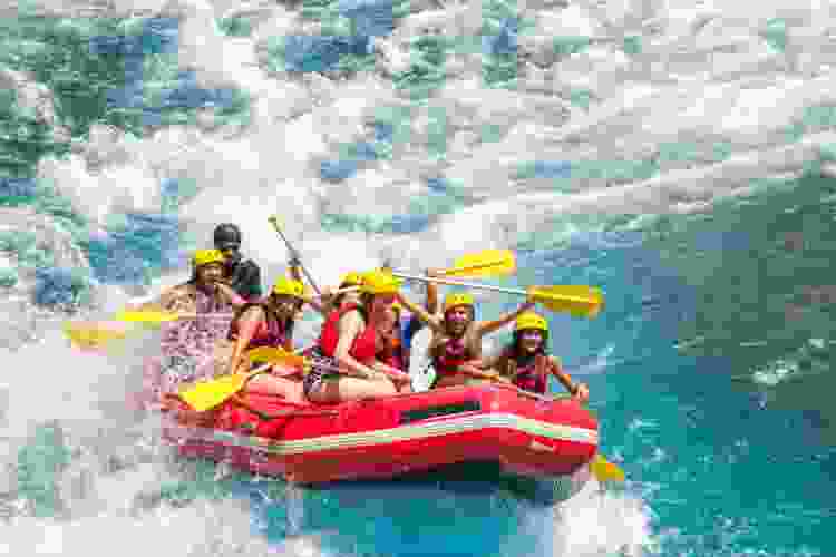
[[[435,289],[432,284],[429,287]],[[436,370],[434,388],[466,384],[472,378],[493,379],[476,365],[482,359],[483,336],[498,331],[535,305],[529,299],[516,311],[496,320],[476,321],[474,297],[467,292],[448,294],[441,315],[430,315],[404,296],[399,301],[432,330],[428,350]]]

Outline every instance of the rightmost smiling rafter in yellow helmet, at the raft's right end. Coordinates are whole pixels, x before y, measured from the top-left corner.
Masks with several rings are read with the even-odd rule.
[[[482,369],[494,369],[517,388],[545,394],[548,390],[548,375],[554,375],[582,402],[590,398],[590,390],[584,383],[575,383],[568,373],[563,371],[561,361],[548,355],[548,322],[542,315],[526,312],[519,315],[514,326],[514,340],[511,345],[493,358],[479,363]]]

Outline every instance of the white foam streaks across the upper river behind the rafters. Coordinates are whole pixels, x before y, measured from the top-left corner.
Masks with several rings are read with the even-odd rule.
[[[625,33],[629,35],[628,31],[631,29],[641,30],[641,26],[648,26],[651,22],[659,26],[658,32],[661,33],[661,37],[655,37],[649,43],[651,48],[661,48],[654,45],[664,45],[665,41],[670,42],[674,39],[690,45],[689,41],[696,38],[692,35],[697,31],[674,25],[677,18],[673,14],[678,13],[678,10],[686,9],[684,7],[673,3],[648,4],[643,2],[641,9],[635,11],[628,8],[632,6],[629,2],[606,2],[603,6],[600,3],[583,6],[582,11],[585,18],[609,28],[610,38],[613,40]],[[217,29],[216,18],[226,14],[233,8],[230,2],[178,0],[165,6],[154,1],[142,6],[135,6],[133,2],[113,4],[117,13],[129,12],[132,8],[138,9],[139,12],[144,11],[145,14],[161,12],[182,17],[181,65],[184,68],[197,70],[198,75],[206,80],[204,86],[232,85],[250,92],[254,98],[253,121],[255,124],[243,136],[227,139],[224,139],[223,135],[215,137],[211,134],[197,134],[197,138],[194,139],[195,134],[189,133],[195,143],[186,149],[177,145],[178,141],[173,136],[173,134],[182,135],[182,130],[163,130],[153,139],[132,145],[132,152],[136,153],[135,160],[121,160],[118,166],[116,163],[106,165],[103,178],[91,177],[89,170],[85,172],[80,162],[76,159],[64,163],[43,162],[41,175],[66,184],[60,189],[76,198],[78,205],[84,205],[81,197],[94,196],[94,190],[101,193],[105,183],[113,183],[110,178],[119,178],[121,193],[108,194],[111,197],[109,204],[96,203],[82,207],[85,213],[100,221],[104,218],[103,211],[128,208],[148,211],[155,203],[149,193],[152,176],[156,178],[184,176],[197,180],[200,187],[205,190],[189,207],[185,208],[183,216],[187,219],[212,219],[215,218],[220,207],[227,207],[222,211],[223,216],[234,217],[242,223],[256,223],[264,217],[264,214],[281,207],[288,222],[301,223],[305,235],[309,235],[318,227],[319,209],[323,204],[352,207],[354,204],[352,199],[356,199],[354,208],[361,209],[366,205],[368,214],[375,213],[378,208],[401,207],[404,202],[417,192],[410,184],[409,176],[416,176],[416,173],[426,167],[425,157],[406,156],[391,164],[379,164],[380,169],[375,170],[373,180],[360,177],[351,182],[356,184],[352,189],[368,189],[346,194],[346,188],[341,188],[340,196],[337,197],[327,193],[328,188],[321,185],[310,167],[310,164],[314,163],[317,157],[325,150],[356,138],[361,130],[362,123],[371,115],[375,107],[387,102],[393,105],[401,102],[387,81],[376,76],[343,82],[307,78],[307,84],[300,89],[297,82],[266,77],[266,74],[257,69],[247,57],[260,48],[263,40],[269,38],[270,27],[262,29],[260,35],[256,33],[250,39],[222,36]],[[747,41],[762,46],[761,27],[769,19],[778,17],[776,13],[789,18],[793,30],[790,35],[797,41],[798,48],[809,41],[820,39],[820,35],[827,31],[818,19],[827,12],[827,8],[818,3],[793,9],[778,4],[761,8],[764,11],[754,13],[748,10],[746,12],[732,10],[728,7],[722,7],[720,10],[718,6],[708,3],[699,8],[689,8],[687,11],[693,19],[702,18],[711,20],[712,23],[728,23],[726,27],[718,27],[718,23],[708,30],[700,30],[698,37],[703,37],[710,30],[715,33],[715,38],[702,47],[691,46],[698,50],[699,48],[710,50],[717,45],[726,45],[729,41],[733,43],[739,36],[743,36]],[[289,23],[290,14],[285,8],[253,3],[247,9],[255,10],[261,16],[275,16],[284,22],[283,27],[280,26],[281,30],[291,32],[301,29],[302,22],[298,19]],[[575,8],[577,9],[580,8]],[[440,22],[446,23],[457,17],[457,9],[450,7],[448,10],[438,10],[435,13]],[[562,12],[554,10],[553,13]],[[421,18],[426,19],[425,13],[405,18],[399,23],[400,35],[396,31],[395,36],[404,36],[402,30],[411,29],[414,27],[411,21],[422,21]],[[426,27],[427,23],[421,25]],[[411,35],[407,32],[402,39],[407,40]],[[611,45],[605,47],[604,52],[609,58],[619,51]],[[565,65],[571,66],[589,56],[591,55],[587,51],[556,61],[554,69],[561,69]],[[738,56],[758,58],[761,55],[749,52]],[[778,59],[779,55],[772,53],[770,57]],[[667,62],[675,66],[675,60],[667,60]],[[636,63],[631,66],[635,71],[641,66]],[[626,188],[607,188],[606,193],[593,192],[568,199],[562,197],[558,206],[550,207],[548,212],[589,212],[601,208],[631,212],[682,211],[683,207],[698,209],[704,206],[702,202],[710,201],[720,192],[728,192],[728,186],[737,186],[740,179],[749,179],[764,174],[770,175],[786,167],[797,168],[805,162],[815,159],[816,145],[832,141],[832,137],[822,136],[810,139],[804,147],[800,147],[804,152],[800,155],[787,153],[784,148],[775,148],[765,152],[767,155],[758,156],[757,160],[754,160],[748,155],[750,149],[761,148],[767,145],[764,141],[775,140],[772,134],[764,134],[764,129],[776,130],[789,124],[801,108],[832,101],[834,98],[833,80],[829,76],[805,79],[805,76],[794,75],[790,71],[776,74],[774,77],[759,76],[757,80],[742,75],[731,80],[723,78],[722,82],[713,82],[712,79],[718,76],[703,74],[711,67],[710,63],[708,66],[696,63],[690,68],[688,79],[663,86],[653,82],[652,74],[639,72],[635,79],[628,80],[622,86],[607,87],[605,91],[596,90],[595,95],[603,104],[595,106],[594,109],[584,113],[573,111],[567,121],[562,121],[562,118],[558,119],[561,121],[546,119],[544,124],[539,116],[542,116],[543,108],[541,105],[546,97],[527,92],[525,87],[519,91],[485,91],[485,95],[476,95],[478,87],[477,89],[464,87],[467,84],[474,85],[473,72],[466,72],[459,80],[450,79],[439,99],[443,105],[449,105],[447,110],[449,128],[464,131],[473,125],[496,124],[497,119],[505,119],[502,116],[505,113],[508,113],[506,116],[515,119],[516,123],[512,125],[508,135],[497,144],[484,144],[476,149],[467,149],[466,153],[460,154],[449,153],[447,158],[450,167],[447,174],[451,178],[461,178],[466,183],[468,193],[475,198],[496,199],[497,195],[502,197],[503,194],[511,193],[508,189],[509,172],[517,164],[533,157],[552,158],[554,153],[561,153],[561,157],[568,159],[579,156],[596,156],[596,154],[599,157],[604,157],[612,153],[618,153],[619,158],[641,157],[652,154],[660,141],[665,138],[675,139],[683,135],[699,136],[710,130],[713,135],[729,140],[742,159],[735,157],[719,165],[702,167],[698,165],[697,170],[668,173],[659,178]],[[600,76],[597,70],[602,68],[596,68],[593,63],[584,70],[584,74]],[[680,74],[688,75],[683,71]],[[623,76],[619,81],[624,82]],[[552,92],[565,92],[562,87],[557,87]],[[297,118],[290,120],[286,119],[288,99],[278,92],[283,92],[285,89],[295,91],[295,95],[291,95],[292,99],[304,105],[300,106],[301,115],[298,114]],[[307,95],[304,89],[308,89]],[[489,96],[488,92],[490,92]],[[318,97],[319,106],[307,102],[305,96]],[[290,105],[295,104],[295,100],[290,102]],[[465,109],[468,106],[478,108],[475,117]],[[776,106],[779,109],[776,109]],[[752,107],[758,107],[758,109],[754,110]],[[535,114],[538,116],[535,117]],[[707,115],[711,117],[706,117]],[[752,128],[752,126],[756,127]],[[455,144],[455,134],[451,139]],[[631,154],[632,150],[635,153]],[[794,152],[795,148],[789,150]],[[177,156],[172,156],[172,153],[177,153]],[[163,156],[163,154],[167,155]],[[730,174],[731,179],[727,179]],[[382,203],[386,207],[375,202],[380,192],[372,193],[370,186],[373,184],[369,182],[391,184],[400,182],[404,177],[407,177],[406,187],[388,188],[387,195],[392,199]],[[91,180],[95,184],[88,184]],[[683,180],[690,184],[686,190],[680,185]],[[697,183],[699,186],[694,185]],[[515,192],[519,192],[519,187],[516,187]],[[233,204],[231,199],[233,196],[244,201]],[[694,196],[696,201],[692,199]],[[457,236],[457,233],[468,232],[465,238],[475,236],[484,242],[486,236],[493,237],[493,232],[505,225],[502,218],[497,218],[497,213],[514,215],[515,221],[519,221],[521,214],[533,214],[534,218],[525,221],[536,223],[543,206],[553,205],[553,194],[526,193],[523,188],[519,195],[508,197],[507,202],[493,202],[496,208],[477,207],[472,209],[476,211],[476,214],[459,212],[450,215],[445,221],[450,224],[444,226],[440,235],[450,238]],[[208,211],[210,207],[213,211]],[[497,241],[505,243],[507,234],[499,231]],[[434,243],[434,247],[439,243],[441,242]]]

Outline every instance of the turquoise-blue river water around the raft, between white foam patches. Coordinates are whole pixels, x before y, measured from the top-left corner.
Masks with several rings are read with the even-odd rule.
[[[388,35],[404,13],[390,2],[358,6],[305,3],[309,10],[341,13],[354,35],[276,38],[270,63],[349,77],[362,71],[370,56],[368,37]],[[503,57],[516,48],[525,27],[496,10],[479,40],[492,57],[483,71],[485,87],[514,81]],[[242,37],[251,27],[245,18],[221,26]],[[770,40],[780,39],[779,46],[781,29],[769,27]],[[204,89],[194,74],[179,70],[173,19],[27,17],[7,21],[0,36],[8,46],[0,63],[31,71],[52,91],[58,120],[76,141],[84,141],[97,123],[138,135],[193,125],[197,108],[225,121],[247,121],[246,94]],[[589,46],[585,38],[565,39],[555,39],[555,52]],[[430,95],[440,80],[443,52],[432,40],[440,39],[417,45],[411,68],[393,79],[415,98]],[[624,51],[640,55],[640,39],[625,38]],[[183,232],[178,209],[201,184],[162,177],[158,212],[111,215],[104,234],[93,234],[84,215],[33,178],[41,157],[66,154],[70,143],[48,138],[47,127],[16,101],[7,99],[0,110],[1,205],[31,207],[67,223],[89,258],[90,278],[100,283],[150,284],[161,273],[183,267],[195,240]],[[833,126],[832,111],[808,113],[794,133]],[[322,183],[344,187],[363,168],[397,158],[398,126],[398,117],[381,111],[368,137],[336,147],[321,162]],[[444,126],[430,126],[428,157],[444,157]],[[502,126],[480,134],[490,143]],[[713,148],[716,159],[729,155],[721,147]],[[536,160],[521,164],[519,175],[552,180],[555,190],[567,192],[595,173],[638,180],[660,172],[658,162],[615,169],[601,163],[595,169],[599,163]],[[836,526],[834,301],[810,294],[833,281],[836,186],[810,166],[799,169],[800,176],[758,180],[748,196],[690,215],[566,216],[538,234],[515,238],[519,284],[595,284],[606,296],[605,311],[594,321],[550,316],[552,350],[589,383],[591,407],[602,420],[603,452],[629,478],[616,499],[602,504],[596,519],[568,522],[591,539],[570,555],[623,555],[619,546],[630,544],[619,543],[614,532],[641,530],[624,526],[641,522],[636,516],[648,521],[647,536],[638,535],[648,555],[836,555],[830,535]],[[321,228],[419,233],[438,215],[472,203],[460,185],[437,174],[422,176],[429,193],[411,199],[406,213],[323,214]],[[91,287],[84,277],[61,274],[66,271],[52,264],[49,253],[33,251],[29,240],[7,235],[3,242],[4,250],[17,251],[20,265],[37,267],[42,304],[77,300],[77,291]],[[513,307],[493,302],[480,311],[500,305]],[[59,483],[74,457],[62,447],[55,430],[42,426],[14,459],[16,498],[28,500],[37,516],[67,515]],[[311,535],[322,551],[337,555],[562,555],[560,538],[571,534],[556,526],[565,518],[555,508],[489,485],[378,482],[288,490],[280,481],[249,476],[216,480],[211,465],[177,467],[172,478],[145,488],[148,507],[188,507],[203,498],[240,501],[250,529],[229,536],[265,538],[274,547]],[[624,512],[633,501],[638,510]]]

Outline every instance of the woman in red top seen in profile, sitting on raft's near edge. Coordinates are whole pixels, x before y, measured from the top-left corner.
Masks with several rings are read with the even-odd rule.
[[[373,271],[363,276],[359,304],[331,311],[311,352],[314,363],[303,382],[308,400],[334,403],[410,390],[409,375],[381,361],[387,344],[380,331],[399,289],[391,274]]]

